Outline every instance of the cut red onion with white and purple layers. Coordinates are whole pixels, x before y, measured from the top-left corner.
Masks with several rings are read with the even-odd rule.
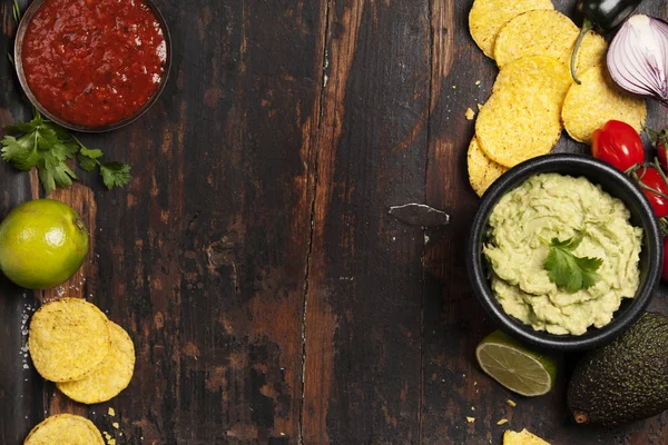
[[[632,16],[610,43],[608,70],[625,90],[668,107],[668,23]]]

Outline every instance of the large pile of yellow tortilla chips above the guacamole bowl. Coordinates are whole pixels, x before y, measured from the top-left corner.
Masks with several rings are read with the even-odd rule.
[[[569,65],[580,29],[550,0],[475,0],[469,27],[500,69],[469,146],[469,180],[478,195],[509,168],[549,154],[564,128],[580,142],[611,119],[642,129],[645,100],[613,85],[608,46],[593,31],[576,60],[581,85],[573,81]]]

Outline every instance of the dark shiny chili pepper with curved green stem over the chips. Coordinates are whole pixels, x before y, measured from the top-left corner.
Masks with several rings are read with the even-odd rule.
[[[584,36],[592,29],[608,33],[619,27],[642,2],[642,0],[578,0],[578,12],[582,14],[582,30],[571,55],[571,76],[576,83],[580,79],[576,75],[576,58]]]

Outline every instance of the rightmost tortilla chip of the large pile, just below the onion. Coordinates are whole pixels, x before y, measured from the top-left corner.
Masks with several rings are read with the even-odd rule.
[[[577,141],[590,142],[595,130],[608,120],[621,120],[640,132],[647,119],[645,99],[619,89],[608,69],[599,65],[579,76],[566,96],[561,118],[568,134]]]

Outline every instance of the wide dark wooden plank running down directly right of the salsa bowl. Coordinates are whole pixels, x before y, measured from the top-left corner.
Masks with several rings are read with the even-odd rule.
[[[137,335],[117,413],[148,444],[294,443],[324,10],[164,12],[173,81],[115,144],[129,145],[129,190],[99,200],[112,210],[100,212],[101,298]]]

